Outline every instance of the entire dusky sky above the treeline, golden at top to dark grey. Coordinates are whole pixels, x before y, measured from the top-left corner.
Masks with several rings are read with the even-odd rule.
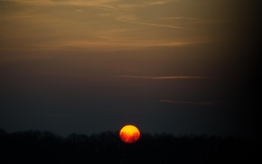
[[[257,136],[259,5],[0,0],[0,128]]]

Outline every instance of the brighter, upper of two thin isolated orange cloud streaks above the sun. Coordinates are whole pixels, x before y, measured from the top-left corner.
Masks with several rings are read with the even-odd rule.
[[[198,78],[208,78],[208,77],[197,77],[197,76],[150,77],[150,76],[132,76],[132,75],[119,75],[117,77],[145,78],[145,79],[198,79]]]

